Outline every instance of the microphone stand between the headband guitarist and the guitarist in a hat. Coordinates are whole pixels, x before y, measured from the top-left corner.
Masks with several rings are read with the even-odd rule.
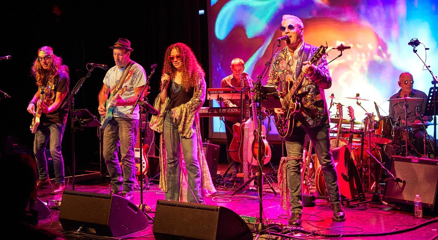
[[[95,66],[92,66],[91,69],[88,69],[88,64],[85,67],[88,70],[88,73],[85,75],[85,77],[82,77],[81,79],[79,79],[78,83],[76,83],[76,85],[74,86],[73,90],[71,90],[71,94],[70,96],[67,98],[67,100],[65,100],[64,104],[62,104],[61,108],[64,108],[66,104],[70,104],[70,124],[71,124],[71,164],[73,166],[72,169],[72,183],[71,183],[71,187],[72,190],[74,191],[74,173],[76,170],[76,159],[74,156],[74,133],[80,129],[80,128],[75,128],[74,127],[74,115],[73,115],[73,110],[74,110],[74,95],[76,95],[79,91],[79,89],[81,88],[82,84],[85,82],[85,79],[87,79],[88,77],[91,76],[91,72],[95,69]]]

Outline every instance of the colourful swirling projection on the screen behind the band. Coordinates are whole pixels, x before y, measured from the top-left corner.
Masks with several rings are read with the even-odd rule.
[[[272,55],[276,38],[281,36],[279,26],[283,14],[292,14],[303,21],[304,40],[311,45],[340,44],[350,46],[343,55],[329,64],[332,87],[325,90],[345,106],[353,106],[357,120],[365,112],[374,112],[374,101],[381,107],[381,115],[388,115],[389,97],[400,87],[397,84],[402,72],[410,72],[415,80],[414,89],[428,94],[431,74],[408,45],[418,38],[424,45],[417,47],[419,56],[438,73],[437,42],[438,14],[433,0],[352,0],[352,1],[287,1],[287,0],[230,0],[211,1],[209,12],[209,39],[211,47],[211,76],[213,87],[220,87],[223,77],[231,74],[230,62],[234,58],[245,61],[245,72],[256,80]],[[284,43],[280,47],[283,48]],[[430,50],[425,50],[425,47]],[[339,56],[336,49],[328,53],[327,60]],[[265,84],[267,76],[262,79]],[[355,100],[360,97],[364,111]],[[327,98],[327,102],[330,102]],[[212,101],[212,106],[218,106]],[[333,109],[333,108],[332,108]],[[334,115],[335,111],[331,110]],[[344,116],[348,118],[348,116]],[[266,124],[266,122],[265,122]],[[275,137],[275,125],[271,125]],[[429,128],[431,133],[432,129]],[[224,124],[219,118],[212,121],[212,137],[224,138]],[[272,139],[272,138],[271,138]]]

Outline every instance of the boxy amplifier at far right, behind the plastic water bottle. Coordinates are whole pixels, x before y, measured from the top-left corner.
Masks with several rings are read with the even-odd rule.
[[[383,201],[413,205],[419,194],[424,208],[434,209],[437,202],[438,161],[413,157],[391,157],[390,171],[405,183],[388,180]]]

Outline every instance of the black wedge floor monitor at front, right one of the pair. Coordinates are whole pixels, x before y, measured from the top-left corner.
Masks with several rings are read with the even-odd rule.
[[[158,200],[153,226],[157,240],[252,240],[244,220],[230,209],[191,202]]]

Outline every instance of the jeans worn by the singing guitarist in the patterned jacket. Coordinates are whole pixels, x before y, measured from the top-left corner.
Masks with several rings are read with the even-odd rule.
[[[314,146],[316,156],[322,168],[325,186],[329,193],[332,204],[341,202],[339,195],[338,177],[336,175],[335,163],[330,151],[329,125],[320,127],[306,128],[295,127],[292,136],[287,137],[286,151],[287,155],[292,157],[303,156],[304,137],[309,136]],[[291,212],[301,213],[303,205],[301,204],[301,158],[300,160],[289,160],[287,162],[287,186],[290,193]]]

